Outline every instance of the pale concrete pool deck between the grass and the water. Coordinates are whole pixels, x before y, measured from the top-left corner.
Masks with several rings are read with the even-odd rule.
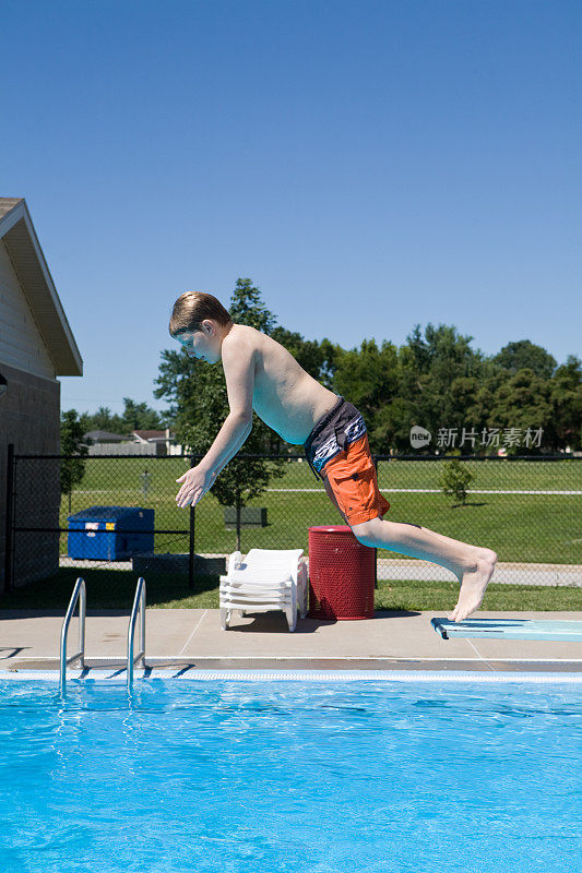
[[[298,619],[289,633],[282,612],[234,615],[221,629],[217,609],[147,609],[145,665],[155,669],[472,670],[582,674],[582,643],[442,639],[430,619],[446,613],[378,611],[365,621]],[[582,621],[582,612],[488,612],[472,618]],[[0,610],[0,670],[55,670],[63,612]],[[87,610],[85,663],[123,667],[129,615]],[[69,629],[78,650],[79,622]],[[135,639],[138,644],[138,639]]]

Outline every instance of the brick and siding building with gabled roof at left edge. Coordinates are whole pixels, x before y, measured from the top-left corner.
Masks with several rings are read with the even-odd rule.
[[[82,375],[83,361],[55,288],[24,199],[0,198],[0,590],[5,570],[9,444],[16,454],[58,454],[61,375]],[[31,473],[31,475],[27,475]],[[39,483],[41,487],[39,487]],[[58,527],[59,467],[19,465],[21,526]],[[14,584],[55,572],[54,534],[17,535]]]

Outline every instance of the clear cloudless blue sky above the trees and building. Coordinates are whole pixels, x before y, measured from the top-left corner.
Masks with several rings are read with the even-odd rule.
[[[155,408],[171,304],[252,278],[346,348],[580,350],[579,0],[3,0],[0,194],[85,364]]]

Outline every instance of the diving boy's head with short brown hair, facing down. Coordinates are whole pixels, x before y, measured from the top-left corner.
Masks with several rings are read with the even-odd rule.
[[[221,359],[222,340],[233,326],[228,311],[211,294],[185,291],[174,303],[169,333],[190,357],[209,363]]]

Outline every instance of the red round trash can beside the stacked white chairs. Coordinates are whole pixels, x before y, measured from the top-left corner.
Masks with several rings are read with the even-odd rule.
[[[309,618],[373,618],[376,549],[348,525],[309,528]]]

